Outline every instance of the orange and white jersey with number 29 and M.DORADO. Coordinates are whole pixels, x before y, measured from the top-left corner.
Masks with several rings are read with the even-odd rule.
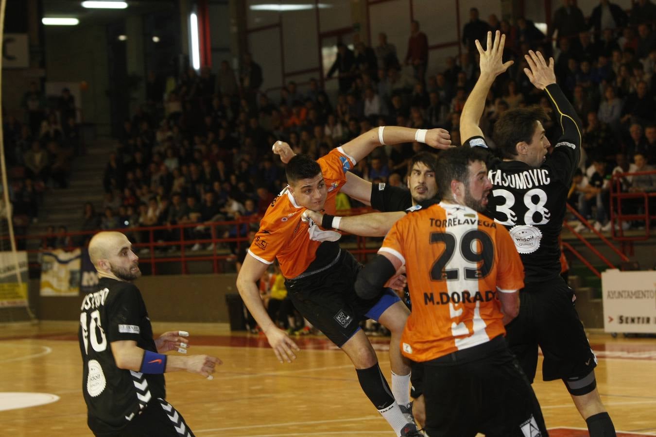
[[[440,202],[397,221],[382,252],[406,266],[408,358],[434,360],[506,333],[497,292],[522,288],[524,271],[510,234],[493,219]]]

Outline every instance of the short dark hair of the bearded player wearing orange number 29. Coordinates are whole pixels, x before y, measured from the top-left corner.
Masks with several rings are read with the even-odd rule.
[[[440,152],[435,168],[438,193],[442,197],[451,193],[451,181],[467,183],[469,164],[475,161],[485,162],[485,153],[480,147],[453,147]]]

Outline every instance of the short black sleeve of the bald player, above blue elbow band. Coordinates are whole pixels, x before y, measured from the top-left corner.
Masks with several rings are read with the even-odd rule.
[[[107,307],[109,326],[107,328],[107,339],[112,341],[134,340],[138,342],[141,338],[140,322],[142,319],[141,308],[143,300],[139,289],[133,284],[121,284],[117,286],[113,299]]]

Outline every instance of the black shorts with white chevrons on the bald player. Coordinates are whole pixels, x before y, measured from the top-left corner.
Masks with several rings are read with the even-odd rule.
[[[92,427],[92,418],[89,418]],[[194,437],[184,418],[165,399],[148,402],[141,413],[118,432],[95,432],[96,437]]]

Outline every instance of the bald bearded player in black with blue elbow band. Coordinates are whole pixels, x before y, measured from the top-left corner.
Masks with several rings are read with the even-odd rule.
[[[84,366],[87,423],[102,437],[188,437],[193,432],[166,400],[164,372],[186,370],[211,379],[218,358],[186,353],[188,333],[153,339],[146,305],[132,281],[141,276],[132,244],[119,232],[100,232],[89,242],[98,271],[97,291],[81,306],[78,332]]]

